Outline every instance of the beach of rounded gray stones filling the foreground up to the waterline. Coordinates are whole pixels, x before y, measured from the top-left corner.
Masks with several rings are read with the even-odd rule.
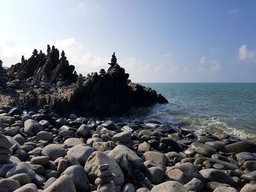
[[[156,120],[0,110],[0,191],[256,191],[256,145]]]

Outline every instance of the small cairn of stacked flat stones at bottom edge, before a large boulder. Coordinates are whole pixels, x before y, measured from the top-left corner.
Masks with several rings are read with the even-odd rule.
[[[98,192],[116,191],[116,185],[113,183],[113,173],[110,171],[108,164],[102,164],[95,172],[97,179],[95,185],[97,185]]]

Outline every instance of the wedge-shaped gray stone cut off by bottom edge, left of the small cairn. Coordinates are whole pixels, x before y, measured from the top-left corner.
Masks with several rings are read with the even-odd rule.
[[[76,192],[75,184],[67,174],[61,175],[44,192]]]

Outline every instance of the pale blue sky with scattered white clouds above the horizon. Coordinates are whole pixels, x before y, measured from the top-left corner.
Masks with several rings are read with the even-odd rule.
[[[0,0],[4,66],[47,45],[78,74],[113,52],[133,82],[256,82],[254,0]]]

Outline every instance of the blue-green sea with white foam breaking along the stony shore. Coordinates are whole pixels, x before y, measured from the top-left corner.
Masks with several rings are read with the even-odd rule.
[[[256,83],[140,83],[169,101],[133,110],[127,118],[153,118],[161,123],[227,132],[256,138]]]

